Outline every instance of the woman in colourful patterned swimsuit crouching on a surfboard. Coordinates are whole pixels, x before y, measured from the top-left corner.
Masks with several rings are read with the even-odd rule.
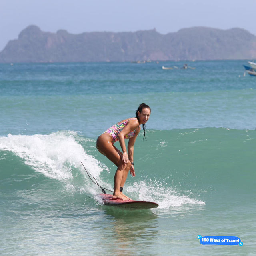
[[[134,118],[124,119],[117,124],[114,124],[106,130],[106,132],[101,134],[96,142],[98,151],[104,154],[117,166],[116,174],[114,176],[113,199],[130,199],[122,193],[122,190],[129,170],[130,174],[133,177],[135,176],[133,162],[134,143],[140,132],[140,124],[142,124],[144,130],[143,139],[145,138],[146,122],[150,117],[151,109],[148,105],[142,103],[135,114],[136,117]],[[129,139],[127,150],[124,139]],[[116,141],[119,141],[122,152],[114,146]]]

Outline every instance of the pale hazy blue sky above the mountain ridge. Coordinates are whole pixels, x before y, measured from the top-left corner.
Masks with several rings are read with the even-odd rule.
[[[73,34],[207,26],[256,35],[255,11],[256,0],[0,0],[0,51],[31,24]]]

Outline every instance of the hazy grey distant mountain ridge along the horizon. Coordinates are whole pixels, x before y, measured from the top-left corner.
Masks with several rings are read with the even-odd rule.
[[[0,52],[0,63],[220,60],[256,58],[256,36],[242,28],[137,32],[43,32],[28,26]]]

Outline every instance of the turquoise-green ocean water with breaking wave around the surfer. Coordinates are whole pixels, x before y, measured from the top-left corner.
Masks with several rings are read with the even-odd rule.
[[[256,79],[242,60],[162,70],[183,64],[0,64],[0,255],[255,255]],[[104,206],[80,161],[112,189],[96,138],[142,102],[124,191],[159,207]]]

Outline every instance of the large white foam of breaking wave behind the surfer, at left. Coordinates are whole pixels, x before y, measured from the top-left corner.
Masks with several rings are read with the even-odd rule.
[[[72,168],[78,168],[84,174],[80,161],[94,177],[98,177],[105,166],[86,154],[75,140],[76,136],[76,132],[70,131],[32,136],[8,134],[7,137],[0,137],[0,150],[13,152],[25,164],[50,178],[73,179]],[[71,184],[67,186],[70,187]]]

